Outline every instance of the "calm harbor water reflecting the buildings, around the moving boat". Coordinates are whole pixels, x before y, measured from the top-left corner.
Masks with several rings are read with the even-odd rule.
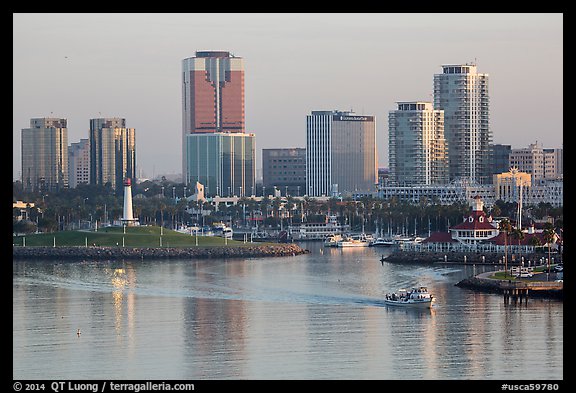
[[[13,378],[563,379],[561,302],[454,286],[480,266],[303,246],[312,253],[13,262]],[[382,304],[416,285],[432,310]]]

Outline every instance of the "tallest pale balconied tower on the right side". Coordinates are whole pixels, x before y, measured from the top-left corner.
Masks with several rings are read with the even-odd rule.
[[[490,183],[488,74],[475,64],[443,65],[434,75],[434,109],[444,111],[450,180]]]

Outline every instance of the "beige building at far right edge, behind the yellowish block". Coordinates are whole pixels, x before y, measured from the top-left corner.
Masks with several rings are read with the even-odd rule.
[[[563,149],[544,149],[537,143],[526,148],[512,149],[509,165],[519,171],[529,173],[532,182],[562,178]]]

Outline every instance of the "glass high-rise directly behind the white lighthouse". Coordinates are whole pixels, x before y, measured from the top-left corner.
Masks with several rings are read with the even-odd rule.
[[[90,119],[90,182],[121,191],[124,179],[136,181],[136,130],[126,119]]]

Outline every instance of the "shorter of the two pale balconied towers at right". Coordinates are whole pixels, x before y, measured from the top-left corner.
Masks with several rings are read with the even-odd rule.
[[[448,183],[444,111],[431,102],[398,102],[388,114],[388,130],[391,184]]]

